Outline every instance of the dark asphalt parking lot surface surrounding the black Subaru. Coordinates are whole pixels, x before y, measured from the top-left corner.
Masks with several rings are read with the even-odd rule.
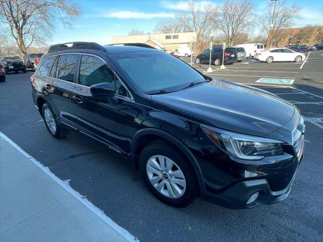
[[[183,58],[189,62],[190,58]],[[208,65],[193,65],[205,72]],[[7,75],[0,83],[0,131],[140,241],[322,241],[323,51],[303,63],[235,63],[212,78],[262,88],[296,105],[306,121],[304,159],[283,202],[229,210],[204,201],[185,209],[153,197],[137,170],[119,154],[76,132],[52,138],[31,98],[33,74]],[[260,78],[294,80],[259,83]],[[215,97],[216,98],[216,97]]]

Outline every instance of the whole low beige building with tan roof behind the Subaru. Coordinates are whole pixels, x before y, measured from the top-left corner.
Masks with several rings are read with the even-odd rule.
[[[157,49],[174,51],[196,42],[196,32],[113,36],[111,44],[145,43]]]

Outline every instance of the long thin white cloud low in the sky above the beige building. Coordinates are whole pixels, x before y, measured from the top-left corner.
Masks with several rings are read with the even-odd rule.
[[[118,18],[118,19],[153,19],[153,18],[174,18],[174,14],[170,13],[144,13],[133,11],[114,11],[99,17]]]

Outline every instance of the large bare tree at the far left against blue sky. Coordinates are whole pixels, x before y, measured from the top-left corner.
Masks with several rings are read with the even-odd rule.
[[[24,54],[32,43],[48,40],[57,20],[69,26],[80,15],[79,5],[69,0],[0,1],[0,20],[9,25],[11,36]]]

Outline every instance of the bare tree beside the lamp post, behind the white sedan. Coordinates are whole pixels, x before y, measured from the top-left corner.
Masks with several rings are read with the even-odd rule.
[[[285,2],[278,1],[273,19],[274,6],[269,5],[265,14],[260,19],[262,29],[268,37],[268,46],[279,42],[282,30],[289,28],[293,21],[300,16],[300,8],[295,4],[287,7]],[[271,30],[272,29],[272,30]],[[271,31],[271,34],[269,34]]]

